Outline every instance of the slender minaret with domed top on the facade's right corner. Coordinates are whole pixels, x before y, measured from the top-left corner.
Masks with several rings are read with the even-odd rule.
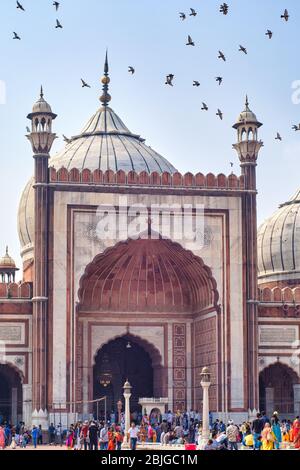
[[[233,145],[237,151],[241,172],[245,178],[245,193],[242,195],[243,223],[243,278],[245,283],[245,311],[247,314],[247,378],[248,408],[258,409],[258,287],[257,287],[257,203],[256,166],[258,154],[263,146],[258,140],[258,129],[262,124],[249,108],[246,96],[245,109],[239,115],[233,128],[237,130],[238,141]]]

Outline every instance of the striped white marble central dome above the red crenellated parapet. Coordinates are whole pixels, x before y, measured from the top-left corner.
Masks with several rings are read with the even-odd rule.
[[[139,135],[133,134],[117,114],[107,106],[91,117],[79,135],[72,137],[66,147],[49,162],[56,169],[88,168],[106,170],[131,170],[152,173],[176,169],[165,158],[145,144]]]

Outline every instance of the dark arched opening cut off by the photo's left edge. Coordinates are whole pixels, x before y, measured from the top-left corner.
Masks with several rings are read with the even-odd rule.
[[[16,424],[22,417],[22,381],[9,364],[0,364],[0,424]]]

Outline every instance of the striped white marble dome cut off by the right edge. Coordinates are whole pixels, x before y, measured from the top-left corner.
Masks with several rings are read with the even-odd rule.
[[[300,190],[258,230],[259,283],[300,279]]]

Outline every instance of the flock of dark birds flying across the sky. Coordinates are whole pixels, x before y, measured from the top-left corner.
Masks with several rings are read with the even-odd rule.
[[[25,12],[25,8],[23,7],[23,5],[17,1],[17,9],[18,10],[21,10],[23,12]],[[59,7],[60,7],[60,3],[57,2],[57,1],[54,1],[53,2],[53,6],[55,7],[55,10],[58,11],[59,10]],[[219,9],[220,13],[222,13],[223,15],[228,15],[229,13],[229,5],[227,3],[222,3],[220,5],[220,9]],[[194,9],[194,8],[190,8],[190,12],[189,13],[185,13],[185,12],[179,12],[179,18],[182,20],[182,21],[185,21],[188,16],[190,17],[196,17],[197,16],[197,11]],[[281,15],[281,18],[288,22],[289,21],[289,18],[290,18],[290,15],[289,15],[289,12],[287,9],[284,10],[283,14]],[[61,24],[61,22],[57,19],[56,20],[56,26],[55,26],[56,29],[63,29],[63,25]],[[13,36],[13,39],[16,39],[16,40],[21,40],[21,37],[19,36],[18,33],[16,33],[15,31],[13,32],[14,36]],[[270,29],[267,29],[266,33],[265,33],[266,36],[268,36],[269,39],[272,39],[273,37],[273,31],[271,31]],[[190,35],[188,35],[187,37],[187,42],[186,42],[186,45],[187,46],[192,46],[192,47],[195,47],[195,42],[193,41],[192,37]],[[248,50],[245,46],[243,45],[239,45],[239,49],[238,49],[239,52],[242,52],[243,54],[247,55],[248,54]],[[223,51],[219,50],[218,51],[218,59],[222,60],[223,62],[226,62],[226,56],[224,54]],[[133,67],[132,65],[129,65],[128,66],[128,73],[130,73],[131,75],[134,75],[135,74],[135,67]],[[169,73],[167,76],[166,76],[166,81],[165,81],[165,85],[168,85],[168,86],[174,86],[174,78],[175,78],[175,75],[172,74],[172,73]],[[219,86],[222,85],[223,83],[223,77],[221,76],[218,76],[218,77],[215,77],[215,80],[216,82],[219,84]],[[91,86],[83,79],[81,78],[81,85],[82,85],[82,88],[91,88]],[[200,82],[198,80],[193,80],[193,86],[194,87],[199,87],[200,86]],[[208,105],[205,103],[205,102],[202,102],[202,107],[201,107],[201,110],[202,111],[208,111]],[[219,117],[219,119],[223,119],[223,112],[218,109],[217,112],[216,112],[216,116]],[[299,124],[294,124],[292,126],[292,129],[297,132],[297,131],[300,131],[300,123]],[[277,132],[276,134],[276,137],[275,137],[275,140],[277,141],[282,141],[282,136],[280,135],[279,132]]]

